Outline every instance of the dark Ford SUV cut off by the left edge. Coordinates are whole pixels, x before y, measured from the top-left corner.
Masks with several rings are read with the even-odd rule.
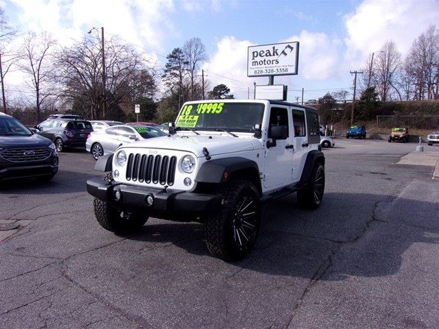
[[[0,182],[16,178],[51,180],[57,172],[54,143],[0,112]]]

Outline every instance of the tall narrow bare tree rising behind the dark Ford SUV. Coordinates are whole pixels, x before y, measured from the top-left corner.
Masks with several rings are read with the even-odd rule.
[[[57,42],[51,37],[49,32],[27,32],[23,36],[22,53],[23,58],[19,67],[23,73],[29,77],[27,84],[35,92],[36,118],[40,120],[40,111],[45,99],[54,94],[49,93],[52,81],[54,66],[51,57],[51,49]],[[47,85],[45,85],[47,83]]]

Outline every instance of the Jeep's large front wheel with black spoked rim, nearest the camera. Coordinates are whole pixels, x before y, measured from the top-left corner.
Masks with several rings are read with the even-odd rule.
[[[259,193],[246,180],[231,180],[215,192],[224,196],[224,206],[205,218],[206,247],[218,258],[241,260],[250,253],[261,226]]]

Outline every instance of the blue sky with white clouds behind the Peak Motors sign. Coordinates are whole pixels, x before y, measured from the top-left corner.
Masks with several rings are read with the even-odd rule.
[[[298,74],[275,76],[288,101],[353,93],[353,71],[392,41],[405,58],[430,25],[439,28],[439,0],[0,0],[10,25],[47,31],[69,45],[92,27],[117,36],[158,62],[191,38],[209,57],[203,66],[211,90],[225,84],[235,98],[252,98],[248,47],[298,42]],[[16,77],[5,77],[12,83]]]

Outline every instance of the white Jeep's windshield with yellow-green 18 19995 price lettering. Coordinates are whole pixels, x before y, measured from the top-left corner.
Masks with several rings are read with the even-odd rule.
[[[176,128],[254,132],[262,123],[263,103],[187,103],[176,120]]]

